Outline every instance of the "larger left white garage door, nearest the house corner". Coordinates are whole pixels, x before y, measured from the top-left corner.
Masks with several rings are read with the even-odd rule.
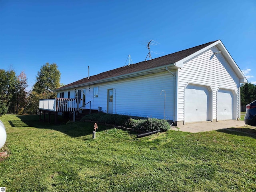
[[[210,92],[206,86],[188,85],[185,89],[185,122],[210,120]]]

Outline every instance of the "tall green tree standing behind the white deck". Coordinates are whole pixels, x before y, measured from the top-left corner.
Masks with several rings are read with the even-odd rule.
[[[44,64],[36,76],[36,83],[33,91],[37,94],[42,94],[43,98],[55,98],[54,89],[60,87],[60,71],[58,66],[53,63]]]

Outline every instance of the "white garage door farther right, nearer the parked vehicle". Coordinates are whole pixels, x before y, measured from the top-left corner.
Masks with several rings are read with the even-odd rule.
[[[230,90],[217,92],[217,120],[234,119],[234,94]]]

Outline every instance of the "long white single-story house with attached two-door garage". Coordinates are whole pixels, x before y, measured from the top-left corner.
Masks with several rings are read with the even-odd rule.
[[[246,82],[217,40],[83,78],[55,91],[58,98],[81,99],[78,107],[89,108],[83,105],[91,101],[91,108],[102,112],[165,118],[179,125],[239,120],[240,87]]]

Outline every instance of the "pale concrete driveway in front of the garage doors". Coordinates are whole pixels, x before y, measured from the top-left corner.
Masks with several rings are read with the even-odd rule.
[[[174,126],[172,130],[179,130],[184,132],[204,132],[204,131],[213,131],[218,129],[225,129],[225,128],[237,128],[247,126],[244,124],[244,121],[236,121],[236,120],[223,120],[218,122],[195,122],[195,123],[187,123],[185,125]]]

